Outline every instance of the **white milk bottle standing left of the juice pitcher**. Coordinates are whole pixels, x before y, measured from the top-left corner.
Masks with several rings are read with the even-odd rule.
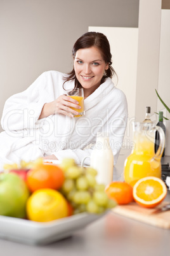
[[[96,181],[108,185],[113,180],[114,155],[106,134],[97,134],[95,148],[91,153],[91,167],[98,172]]]

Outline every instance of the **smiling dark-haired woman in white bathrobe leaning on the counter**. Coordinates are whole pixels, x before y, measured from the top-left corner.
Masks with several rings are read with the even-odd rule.
[[[106,36],[87,32],[77,39],[72,55],[74,68],[67,75],[47,71],[30,87],[11,96],[5,103],[0,135],[1,168],[4,163],[30,161],[37,157],[62,160],[74,158],[77,164],[91,154],[97,132],[107,132],[114,164],[126,130],[128,108],[124,93],[111,78],[112,55]],[[65,89],[84,89],[84,117],[75,99]]]

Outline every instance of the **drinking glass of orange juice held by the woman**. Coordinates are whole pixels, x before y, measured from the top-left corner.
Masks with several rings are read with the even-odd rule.
[[[79,106],[81,106],[81,109],[70,107],[70,108],[72,108],[72,110],[79,112],[79,115],[74,115],[74,117],[82,117],[84,115],[84,91],[83,91],[83,88],[67,90],[67,96],[72,97],[72,99],[75,99],[76,101],[78,101]]]

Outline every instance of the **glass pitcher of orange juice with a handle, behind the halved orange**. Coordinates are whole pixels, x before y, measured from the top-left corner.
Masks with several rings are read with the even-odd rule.
[[[160,135],[157,153],[154,151],[155,132]],[[140,178],[155,176],[161,178],[161,157],[165,136],[161,127],[153,123],[133,123],[133,150],[124,162],[124,181],[134,185]]]

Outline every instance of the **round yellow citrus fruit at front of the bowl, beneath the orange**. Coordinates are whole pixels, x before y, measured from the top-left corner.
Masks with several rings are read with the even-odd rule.
[[[68,204],[62,194],[51,188],[36,190],[27,200],[27,218],[49,222],[69,215]]]

